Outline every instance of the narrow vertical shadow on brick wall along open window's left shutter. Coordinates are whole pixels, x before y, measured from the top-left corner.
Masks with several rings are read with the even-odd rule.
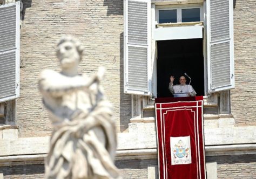
[[[124,33],[120,33],[120,132],[128,128],[131,119],[131,95],[124,94]]]

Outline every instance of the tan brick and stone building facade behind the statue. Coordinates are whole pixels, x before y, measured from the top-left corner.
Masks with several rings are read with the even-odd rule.
[[[0,1],[4,3],[14,1]],[[45,68],[59,71],[55,49],[63,35],[75,36],[85,47],[80,73],[106,68],[103,87],[114,107],[116,165],[121,175],[155,178],[154,100],[124,93],[124,2],[23,0],[22,4],[19,98],[1,103],[5,112],[0,115],[0,178],[43,178],[52,126],[38,91],[38,74]],[[256,178],[255,12],[253,0],[233,1],[235,88],[204,98],[208,178]]]

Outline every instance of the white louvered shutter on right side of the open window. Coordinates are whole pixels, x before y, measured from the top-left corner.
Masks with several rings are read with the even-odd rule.
[[[233,0],[207,0],[208,92],[234,88]]]

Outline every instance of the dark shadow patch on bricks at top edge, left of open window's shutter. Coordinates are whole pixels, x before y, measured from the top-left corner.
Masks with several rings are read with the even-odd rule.
[[[104,0],[103,6],[107,6],[107,16],[123,15],[123,0]]]

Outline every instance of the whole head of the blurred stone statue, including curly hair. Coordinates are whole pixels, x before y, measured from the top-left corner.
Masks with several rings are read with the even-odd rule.
[[[70,68],[78,65],[82,60],[83,46],[77,39],[66,36],[59,40],[57,47],[57,57],[62,68]]]

